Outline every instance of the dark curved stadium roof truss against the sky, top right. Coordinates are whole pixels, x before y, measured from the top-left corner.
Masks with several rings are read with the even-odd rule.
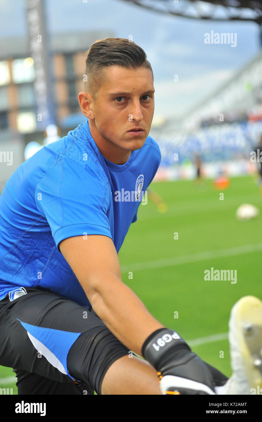
[[[259,0],[123,0],[158,13],[190,19],[252,21],[262,24]]]

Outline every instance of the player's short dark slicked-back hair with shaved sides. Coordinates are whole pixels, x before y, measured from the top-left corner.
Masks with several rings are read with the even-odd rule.
[[[137,69],[148,68],[154,75],[144,50],[127,38],[104,38],[97,40],[86,51],[85,92],[96,101],[102,84],[102,68],[107,66],[122,66]]]

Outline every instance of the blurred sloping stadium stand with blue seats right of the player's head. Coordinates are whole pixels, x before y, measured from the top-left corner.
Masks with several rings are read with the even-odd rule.
[[[213,162],[217,174],[222,171],[219,164],[214,167],[214,162],[221,161],[227,162],[223,166],[224,173],[255,171],[250,152],[262,135],[262,52],[187,113],[179,126],[169,119],[152,127],[150,135],[160,146],[161,166],[173,167],[171,173],[166,172],[168,178],[176,179],[181,174],[194,177],[194,169],[184,173],[179,166],[192,166],[196,153],[201,156],[206,176],[214,173],[207,165],[209,162]],[[178,154],[177,161],[174,154]],[[177,172],[175,167],[183,171]]]

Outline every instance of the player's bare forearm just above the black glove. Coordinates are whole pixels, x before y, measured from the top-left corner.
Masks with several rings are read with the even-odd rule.
[[[88,299],[99,318],[128,349],[142,356],[144,341],[164,325],[117,276],[95,284],[91,292]]]

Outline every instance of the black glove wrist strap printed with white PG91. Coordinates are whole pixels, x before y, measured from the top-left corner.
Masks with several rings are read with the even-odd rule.
[[[188,344],[176,331],[169,328],[159,328],[144,341],[142,355],[155,368],[163,355],[176,346],[183,346],[191,352]]]

